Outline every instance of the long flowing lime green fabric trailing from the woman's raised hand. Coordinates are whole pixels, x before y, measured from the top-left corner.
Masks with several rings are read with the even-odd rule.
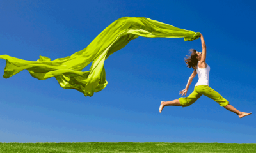
[[[108,84],[104,61],[109,55],[122,49],[129,41],[143,37],[198,39],[200,33],[179,29],[145,17],[122,17],[110,24],[86,48],[65,58],[51,61],[41,56],[37,61],[26,61],[9,55],[0,55],[6,60],[4,78],[12,77],[26,69],[38,80],[55,77],[64,89],[76,89],[84,96],[93,96]],[[92,62],[90,71],[82,71]]]

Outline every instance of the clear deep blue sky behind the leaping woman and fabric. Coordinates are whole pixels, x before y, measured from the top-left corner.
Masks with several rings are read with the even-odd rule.
[[[55,78],[37,80],[26,70],[1,77],[0,142],[256,143],[255,6],[254,1],[1,1],[0,55],[29,61],[72,55],[121,17],[200,32],[211,66],[209,86],[252,115],[239,119],[206,96],[159,113],[161,101],[180,98],[193,72],[184,57],[190,48],[202,52],[201,41],[139,37],[104,62],[108,85],[92,97],[61,88]],[[0,59],[2,74],[4,67]],[[196,75],[186,96],[197,81]]]

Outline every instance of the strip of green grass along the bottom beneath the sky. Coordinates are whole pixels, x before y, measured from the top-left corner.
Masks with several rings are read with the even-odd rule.
[[[256,152],[256,143],[44,142],[1,143],[0,152]]]

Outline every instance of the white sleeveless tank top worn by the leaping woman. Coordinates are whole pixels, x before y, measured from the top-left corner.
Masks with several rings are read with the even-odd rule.
[[[209,86],[210,66],[207,64],[206,68],[199,68],[198,63],[196,66],[196,72],[198,74],[199,79],[195,86],[198,86],[198,85],[208,85]]]

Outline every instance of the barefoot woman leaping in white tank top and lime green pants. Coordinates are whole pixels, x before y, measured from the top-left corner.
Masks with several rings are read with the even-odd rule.
[[[198,74],[198,82],[195,85],[194,91],[188,96],[188,97],[182,97],[179,99],[175,99],[173,101],[161,101],[161,105],[159,108],[159,112],[161,113],[164,106],[182,106],[186,107],[189,106],[195,101],[200,98],[204,94],[204,96],[207,96],[217,103],[219,103],[220,106],[223,106],[227,110],[230,110],[234,113],[236,113],[240,118],[250,115],[252,113],[245,113],[245,112],[240,112],[236,108],[234,108],[232,105],[229,104],[229,102],[223,98],[218,92],[214,91],[211,87],[209,87],[209,72],[210,72],[210,66],[206,64],[205,59],[206,59],[206,45],[204,41],[204,37],[202,34],[200,34],[200,38],[202,41],[202,48],[203,51],[202,53],[197,52],[194,49],[191,49],[190,51],[191,56],[188,59],[185,59],[186,64],[188,64],[189,68],[193,68],[194,71],[192,75],[189,77],[188,84],[185,89],[180,91],[180,94],[187,94],[189,85],[191,84],[193,78]]]

